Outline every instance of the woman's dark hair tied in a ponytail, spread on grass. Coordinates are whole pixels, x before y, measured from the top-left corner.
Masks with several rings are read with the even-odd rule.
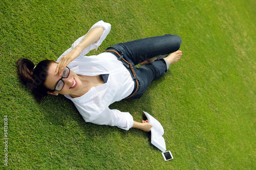
[[[44,84],[48,76],[48,69],[52,63],[56,62],[43,60],[35,67],[34,63],[29,59],[21,58],[17,60],[20,80],[35,93],[38,102],[41,101],[42,97],[47,96],[48,91],[52,91]]]

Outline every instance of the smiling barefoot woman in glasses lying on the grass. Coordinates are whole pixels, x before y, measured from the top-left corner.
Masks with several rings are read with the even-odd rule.
[[[47,94],[65,95],[86,122],[150,131],[152,125],[147,121],[135,122],[130,113],[109,106],[122,99],[140,98],[153,80],[180,59],[181,39],[175,35],[145,38],[118,43],[97,56],[85,56],[97,50],[110,30],[109,23],[95,23],[57,62],[44,60],[35,66],[29,59],[19,59],[20,79],[39,102]],[[143,61],[145,65],[135,67]]]

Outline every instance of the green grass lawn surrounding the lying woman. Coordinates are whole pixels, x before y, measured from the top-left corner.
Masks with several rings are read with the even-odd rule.
[[[1,141],[7,169],[255,169],[256,3],[250,1],[0,1]],[[175,34],[182,59],[139,100],[111,108],[164,127],[165,162],[137,129],[85,123],[63,96],[38,104],[20,83],[18,58],[56,60],[98,20],[118,42]]]

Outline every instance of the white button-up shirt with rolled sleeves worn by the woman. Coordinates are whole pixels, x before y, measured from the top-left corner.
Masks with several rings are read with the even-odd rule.
[[[128,112],[109,109],[109,106],[116,101],[126,98],[132,93],[134,81],[130,72],[125,68],[122,62],[111,53],[101,53],[97,56],[84,56],[95,48],[97,50],[97,47],[111,30],[111,25],[102,20],[95,23],[90,30],[96,27],[104,28],[100,39],[85,48],[68,67],[77,75],[97,76],[109,74],[108,81],[97,87],[92,87],[86,94],[78,98],[72,98],[70,95],[65,96],[74,103],[86,122],[98,125],[117,126],[121,129],[129,130],[133,126],[133,116]],[[77,39],[72,46],[58,58],[57,62],[78,45],[86,35]]]

